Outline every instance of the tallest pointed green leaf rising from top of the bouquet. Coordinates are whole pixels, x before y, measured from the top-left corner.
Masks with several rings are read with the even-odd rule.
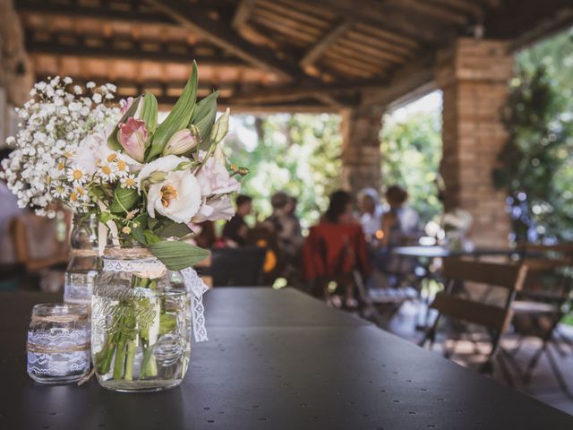
[[[189,124],[189,120],[193,114],[195,107],[195,99],[197,98],[197,63],[193,61],[191,76],[185,85],[183,94],[175,103],[175,107],[169,113],[165,121],[161,123],[151,142],[150,153],[146,157],[146,161],[154,159],[163,153],[167,142],[175,132],[183,130]]]

